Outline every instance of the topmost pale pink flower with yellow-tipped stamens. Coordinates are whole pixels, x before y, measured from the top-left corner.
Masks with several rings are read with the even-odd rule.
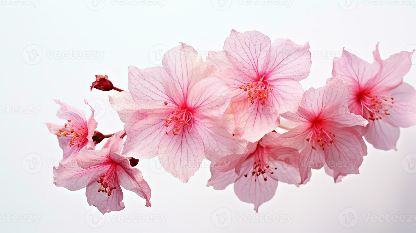
[[[243,139],[254,142],[280,124],[279,114],[296,112],[310,71],[309,43],[270,38],[258,31],[231,30],[224,51],[208,52],[207,61],[230,84],[235,124]]]

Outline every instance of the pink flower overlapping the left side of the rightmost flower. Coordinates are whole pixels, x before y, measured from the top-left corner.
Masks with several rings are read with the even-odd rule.
[[[282,114],[298,124],[277,141],[300,150],[302,183],[312,168],[324,164],[342,174],[358,174],[366,147],[357,127],[368,122],[349,112],[348,96],[348,85],[334,79],[325,87],[307,90],[296,113]]]

